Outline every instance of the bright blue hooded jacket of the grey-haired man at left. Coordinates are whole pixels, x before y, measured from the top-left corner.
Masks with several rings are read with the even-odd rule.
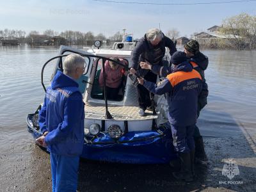
[[[44,106],[39,113],[40,131],[54,154],[79,156],[84,141],[84,102],[78,84],[58,71],[47,88]]]

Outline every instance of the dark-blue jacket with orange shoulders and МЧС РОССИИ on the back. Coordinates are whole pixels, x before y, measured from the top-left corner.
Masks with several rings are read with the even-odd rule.
[[[202,90],[202,77],[188,61],[180,63],[175,72],[169,74],[158,85],[144,81],[150,92],[167,94],[170,124],[188,126],[196,123],[198,95]]]

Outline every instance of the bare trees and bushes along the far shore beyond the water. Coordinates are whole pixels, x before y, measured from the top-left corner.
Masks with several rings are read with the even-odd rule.
[[[223,20],[221,29],[218,31],[221,35],[226,35],[226,38],[209,38],[207,40],[199,41],[200,45],[205,48],[213,49],[256,49],[256,16],[248,15],[247,13],[241,13],[232,17],[228,17]],[[1,38],[17,38],[19,43],[29,43],[31,35],[38,35],[39,31],[30,31],[28,34],[26,31],[14,30],[14,29],[0,29]],[[86,45],[87,41],[94,40],[110,40],[111,42],[122,41],[122,33],[117,31],[112,36],[106,37],[102,33],[94,35],[92,31],[54,31],[47,29],[43,32],[49,39],[53,36],[59,35],[65,38],[67,44]],[[175,40],[179,38],[179,31],[177,29],[170,29],[165,33],[166,36]],[[196,33],[191,35],[191,38]]]

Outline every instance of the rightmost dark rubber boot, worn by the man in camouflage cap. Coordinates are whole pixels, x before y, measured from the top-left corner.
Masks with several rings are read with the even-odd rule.
[[[196,163],[204,163],[208,161],[204,150],[204,141],[202,136],[194,137],[195,140],[195,160]]]

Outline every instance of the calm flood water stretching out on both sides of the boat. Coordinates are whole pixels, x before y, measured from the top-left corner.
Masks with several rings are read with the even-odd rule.
[[[243,132],[255,136],[256,52],[202,52],[209,57],[205,71],[209,97],[198,120],[201,134],[223,138]],[[43,102],[42,65],[57,54],[54,47],[0,47],[1,154],[13,148],[29,150],[26,146],[33,143],[26,131],[26,115]],[[48,82],[53,66],[45,69]]]

